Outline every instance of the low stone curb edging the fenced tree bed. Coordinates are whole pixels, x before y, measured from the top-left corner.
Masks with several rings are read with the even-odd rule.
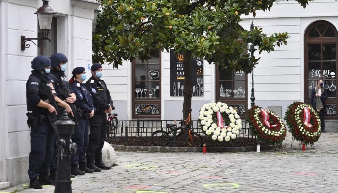
[[[111,144],[114,150],[118,151],[151,151],[151,152],[203,152],[203,147],[170,147],[170,146],[124,146]],[[269,150],[274,145],[261,145],[261,150]],[[207,147],[207,152],[245,152],[256,151],[256,146],[243,147]]]

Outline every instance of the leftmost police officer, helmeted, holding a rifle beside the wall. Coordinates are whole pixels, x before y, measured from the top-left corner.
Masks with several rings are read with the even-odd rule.
[[[31,152],[29,153],[28,176],[30,188],[41,189],[41,184],[55,185],[48,175],[48,166],[53,155],[54,131],[52,115],[58,114],[56,102],[72,113],[70,106],[54,95],[54,88],[47,74],[51,70],[51,60],[37,56],[31,62],[32,74],[26,83],[27,123],[31,127]],[[50,87],[50,88],[48,88]],[[46,89],[47,94],[46,94]],[[54,95],[54,96],[53,96]],[[45,102],[49,100],[49,103]],[[51,101],[52,100],[52,101]],[[51,105],[55,104],[55,106]]]

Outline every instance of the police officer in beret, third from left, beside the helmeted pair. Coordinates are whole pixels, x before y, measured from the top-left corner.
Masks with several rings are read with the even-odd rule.
[[[89,143],[89,119],[94,116],[95,107],[89,91],[84,86],[83,81],[87,78],[84,67],[74,68],[73,77],[69,80],[77,100],[75,105],[78,110],[79,127],[75,127],[72,134],[72,141],[77,144],[76,154],[71,156],[71,174],[84,175],[84,173],[93,173],[93,169],[86,166],[85,153]]]

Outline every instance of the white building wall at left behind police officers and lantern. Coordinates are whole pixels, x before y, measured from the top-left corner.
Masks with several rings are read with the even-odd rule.
[[[41,6],[41,0],[0,0],[0,188],[28,181],[30,129],[25,84],[32,70],[30,62],[38,54],[64,53],[68,75],[74,67],[88,69],[92,63],[93,10],[99,6],[95,0],[50,0],[49,6],[56,12],[51,42],[39,46],[27,42],[30,47],[21,51],[21,36],[41,36],[34,14]]]

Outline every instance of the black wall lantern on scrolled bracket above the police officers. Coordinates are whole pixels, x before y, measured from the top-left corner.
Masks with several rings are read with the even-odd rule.
[[[49,0],[42,0],[43,5],[35,12],[37,15],[37,20],[39,22],[40,31],[42,34],[42,37],[40,38],[26,38],[26,36],[21,36],[21,50],[26,50],[26,48],[29,48],[30,45],[26,42],[32,40],[37,40],[37,44],[33,42],[34,45],[39,45],[42,40],[48,40],[51,42],[51,39],[48,37],[48,33],[51,30],[51,22],[53,20],[53,16],[55,14],[54,10],[48,6]]]

